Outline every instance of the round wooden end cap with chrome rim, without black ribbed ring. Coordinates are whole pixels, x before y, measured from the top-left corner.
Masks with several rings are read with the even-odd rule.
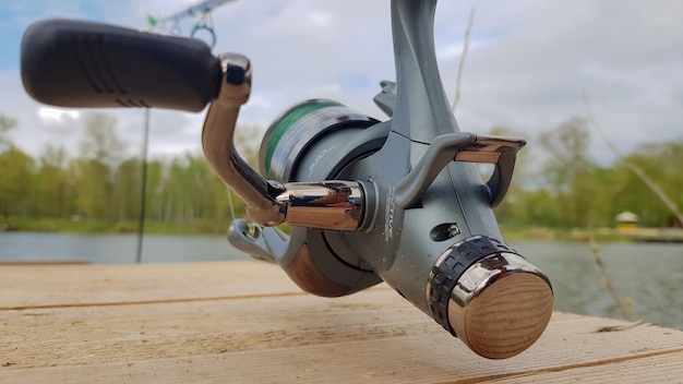
[[[505,359],[529,348],[553,310],[550,283],[513,253],[487,256],[458,279],[448,302],[448,322],[471,350]]]

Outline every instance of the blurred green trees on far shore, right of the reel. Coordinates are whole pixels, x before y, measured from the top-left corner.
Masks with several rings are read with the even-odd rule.
[[[683,206],[683,139],[643,143],[628,154],[612,154],[615,160],[610,165],[590,157],[591,139],[589,121],[571,118],[531,141],[534,147],[517,157],[513,187],[498,208],[499,219],[511,225],[596,228],[613,227],[616,215],[632,212],[642,227],[681,227],[676,215],[632,168],[647,175],[675,206]]]

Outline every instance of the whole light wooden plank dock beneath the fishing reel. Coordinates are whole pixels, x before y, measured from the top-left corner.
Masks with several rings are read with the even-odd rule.
[[[1,383],[681,383],[683,332],[558,313],[507,360],[387,286],[302,293],[257,262],[0,266]]]

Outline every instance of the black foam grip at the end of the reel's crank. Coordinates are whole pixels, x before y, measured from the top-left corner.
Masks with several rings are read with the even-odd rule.
[[[187,111],[216,98],[221,73],[202,40],[73,20],[31,25],[21,69],[26,92],[45,104]]]

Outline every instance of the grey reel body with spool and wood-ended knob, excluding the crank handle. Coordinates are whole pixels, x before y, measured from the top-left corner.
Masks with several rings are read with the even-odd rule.
[[[381,278],[477,353],[507,358],[540,337],[553,307],[547,277],[502,240],[492,211],[525,142],[460,132],[433,36],[422,29],[434,7],[392,3],[397,82],[383,82],[375,97],[388,121],[309,100],[284,112],[262,144],[263,171],[278,182],[354,180],[360,218],[340,228],[332,211],[320,211],[329,223],[295,228],[286,245],[277,229],[247,236],[244,221],[229,238],[245,251],[259,243],[256,257],[315,295],[347,295]],[[491,179],[483,183],[472,163],[494,165]]]

